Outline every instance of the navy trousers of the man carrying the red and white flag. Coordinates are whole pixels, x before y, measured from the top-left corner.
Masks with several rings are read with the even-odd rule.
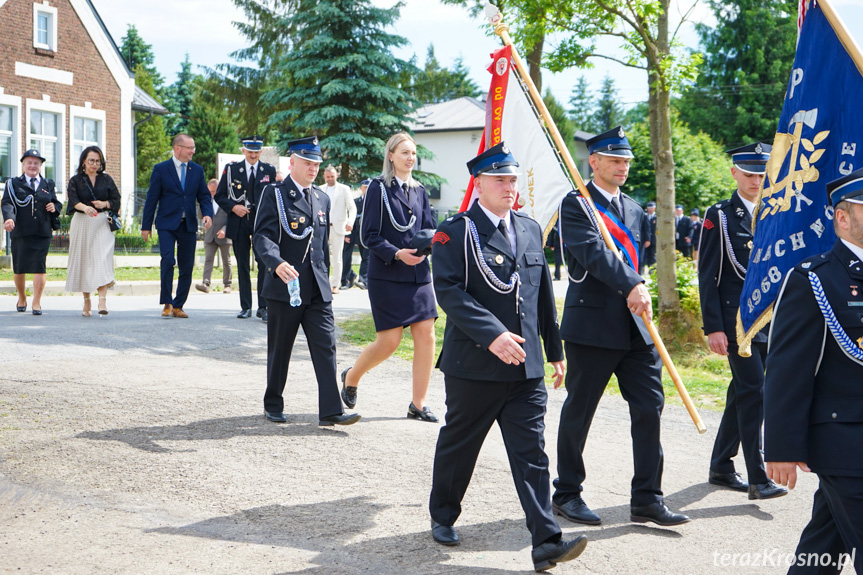
[[[587,477],[584,447],[599,400],[612,373],[617,376],[620,393],[629,404],[635,468],[631,505],[650,505],[662,500],[664,456],[660,443],[660,416],[665,405],[662,363],[656,347],[645,343],[635,320],[632,320],[630,334],[628,350],[564,341],[566,400],[557,434],[555,503],[566,503],[583,490]]]

